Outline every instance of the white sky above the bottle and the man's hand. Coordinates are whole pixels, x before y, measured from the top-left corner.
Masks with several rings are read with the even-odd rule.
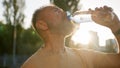
[[[119,0],[81,0],[80,4],[82,4],[81,10],[87,10],[88,8],[94,9],[95,7],[102,7],[104,5],[112,7],[114,12],[120,18]]]

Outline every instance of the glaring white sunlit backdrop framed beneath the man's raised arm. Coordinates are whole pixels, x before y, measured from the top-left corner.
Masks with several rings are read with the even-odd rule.
[[[88,45],[90,42],[106,45],[106,40],[114,39],[111,30],[95,23],[82,23],[80,28],[72,36],[75,44]],[[97,41],[98,40],[98,41]]]

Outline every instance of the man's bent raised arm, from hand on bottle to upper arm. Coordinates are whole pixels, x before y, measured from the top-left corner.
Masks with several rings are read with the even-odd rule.
[[[92,13],[92,19],[103,26],[110,28],[120,44],[120,21],[112,8],[104,6],[96,8]],[[120,48],[120,45],[118,45]],[[120,53],[103,54],[98,52],[89,52],[94,68],[120,68]]]

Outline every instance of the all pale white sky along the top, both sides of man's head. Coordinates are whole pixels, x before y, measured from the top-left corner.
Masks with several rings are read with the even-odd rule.
[[[40,6],[49,4],[49,0],[25,0],[26,1],[26,6],[24,10],[25,14],[25,28],[30,27],[31,23],[31,18],[33,12],[39,8]],[[118,15],[120,18],[120,2],[119,0],[80,0],[80,5],[82,5],[81,10],[87,10],[88,8],[94,9],[95,7],[101,7],[103,5],[107,5],[109,7],[112,7],[114,12]],[[0,0],[0,21],[4,20],[3,18],[3,6],[2,6],[2,0]]]

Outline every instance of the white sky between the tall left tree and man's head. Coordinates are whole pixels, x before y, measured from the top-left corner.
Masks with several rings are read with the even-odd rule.
[[[50,3],[49,0],[25,0],[26,8],[25,8],[25,27],[28,28],[31,25],[31,18],[36,9],[41,6],[47,5]]]

